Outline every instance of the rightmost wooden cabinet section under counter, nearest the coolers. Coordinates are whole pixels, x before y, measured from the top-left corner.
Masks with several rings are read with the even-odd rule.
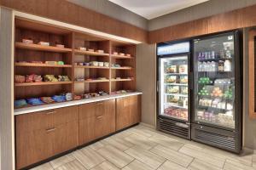
[[[141,95],[116,99],[116,130],[141,122]]]

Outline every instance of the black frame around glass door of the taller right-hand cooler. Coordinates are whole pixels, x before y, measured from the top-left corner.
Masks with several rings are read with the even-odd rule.
[[[242,50],[241,50],[241,47],[242,47],[242,39],[241,39],[241,31],[239,30],[236,30],[236,31],[225,31],[225,32],[218,32],[216,34],[213,34],[213,35],[208,35],[208,36],[202,36],[202,37],[194,37],[192,39],[192,42],[191,42],[191,54],[193,55],[193,65],[191,65],[191,67],[195,67],[194,65],[194,62],[195,62],[195,47],[194,47],[194,43],[195,43],[195,40],[204,40],[204,39],[210,39],[210,38],[214,38],[214,37],[223,37],[225,35],[231,35],[233,34],[234,36],[234,48],[235,48],[235,95],[236,96],[239,96],[238,98],[235,98],[235,111],[236,111],[236,117],[235,117],[235,128],[230,128],[230,127],[223,127],[223,126],[218,126],[218,125],[214,125],[214,124],[211,124],[211,123],[206,123],[206,122],[195,122],[195,97],[196,97],[196,94],[195,94],[195,91],[192,91],[192,96],[193,96],[193,99],[191,99],[191,102],[192,102],[192,107],[191,107],[191,123],[192,124],[197,124],[197,125],[201,125],[202,127],[213,127],[216,129],[216,131],[218,131],[218,129],[221,129],[221,130],[226,130],[226,131],[230,131],[232,133],[234,133],[234,135],[236,135],[236,144],[239,146],[238,148],[236,148],[236,150],[230,150],[232,152],[236,152],[236,153],[239,153],[241,151],[241,138],[242,138],[242,134],[241,134],[241,126],[242,126],[242,117],[241,117],[241,114],[242,114],[242,99],[243,99],[243,94],[242,94],[242,83],[241,83],[241,80],[242,80],[242,63],[243,63],[243,59],[241,59],[241,56],[242,56]],[[195,71],[194,72],[194,76],[195,77]],[[193,86],[195,85],[194,84],[195,80],[193,80]],[[193,136],[194,133],[192,131],[192,128],[191,128],[191,137]],[[203,142],[204,144],[210,144],[208,142]],[[212,145],[212,144],[210,144]],[[216,147],[219,147],[218,145],[214,145]],[[222,148],[225,150],[225,148],[223,147],[219,147],[219,148]]]

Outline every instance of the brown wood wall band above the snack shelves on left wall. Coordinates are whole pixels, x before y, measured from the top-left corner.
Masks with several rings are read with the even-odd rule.
[[[65,0],[1,0],[0,5],[28,14],[147,42],[148,32]]]

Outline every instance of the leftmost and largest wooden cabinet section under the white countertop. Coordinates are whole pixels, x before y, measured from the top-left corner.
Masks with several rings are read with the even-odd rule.
[[[15,116],[16,168],[78,146],[78,114],[78,106],[72,106]]]

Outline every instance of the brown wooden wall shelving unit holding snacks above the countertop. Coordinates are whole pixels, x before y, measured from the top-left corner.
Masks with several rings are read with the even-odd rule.
[[[23,43],[23,38],[32,39],[33,43]],[[38,45],[41,41],[49,42],[50,46]],[[55,47],[57,43],[63,44],[65,48]],[[87,50],[79,50],[80,47]],[[94,52],[88,49],[94,49]],[[98,53],[97,50],[103,50],[104,53]],[[131,57],[119,53],[130,54]],[[46,61],[63,61],[64,65],[44,64]],[[109,66],[77,65],[92,61]],[[100,91],[108,94],[119,90],[135,91],[135,61],[136,46],[133,44],[15,19],[15,75],[61,75],[70,79],[69,82],[15,83],[15,99],[51,97],[62,93],[80,95]],[[120,67],[112,67],[114,64]],[[100,77],[106,79],[98,79]],[[85,80],[76,81],[78,78]],[[91,80],[86,80],[88,78]]]

